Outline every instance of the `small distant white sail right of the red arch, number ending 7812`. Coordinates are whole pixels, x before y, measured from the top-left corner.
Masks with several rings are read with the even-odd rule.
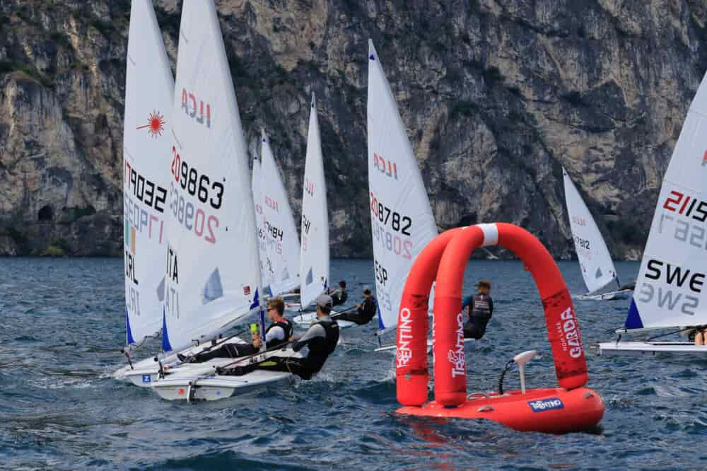
[[[607,286],[610,281],[617,280],[616,269],[597,223],[564,168],[562,176],[575,252],[582,269],[584,284],[591,293]]]

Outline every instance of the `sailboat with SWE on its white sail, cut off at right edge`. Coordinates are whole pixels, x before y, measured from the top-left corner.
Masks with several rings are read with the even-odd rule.
[[[600,355],[702,354],[690,342],[626,342],[621,335],[707,325],[707,74],[702,79],[662,180],[636,291],[616,342]],[[658,335],[665,337],[665,335]],[[658,338],[655,337],[655,338]]]

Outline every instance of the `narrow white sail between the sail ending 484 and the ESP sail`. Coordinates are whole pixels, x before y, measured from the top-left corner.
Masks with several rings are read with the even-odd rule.
[[[300,251],[300,303],[308,306],[329,283],[329,215],[324,178],[322,138],[317,101],[312,93],[307,134],[307,158],[302,194],[302,247]]]

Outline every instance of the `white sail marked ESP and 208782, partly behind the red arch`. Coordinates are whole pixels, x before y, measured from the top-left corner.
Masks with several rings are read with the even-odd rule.
[[[378,327],[387,330],[397,324],[412,263],[437,235],[437,226],[395,98],[370,40],[368,188]]]

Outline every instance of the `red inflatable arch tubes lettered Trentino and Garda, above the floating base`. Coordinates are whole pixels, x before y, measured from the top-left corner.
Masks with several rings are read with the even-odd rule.
[[[436,400],[432,403],[435,411],[430,411],[429,414],[477,417],[474,414],[470,416],[467,412],[455,415],[449,408],[470,402],[467,401],[466,390],[462,281],[464,268],[474,249],[488,245],[508,248],[520,257],[526,269],[532,273],[542,299],[556,376],[561,386],[561,390],[551,391],[554,394],[559,394],[558,391],[569,392],[587,383],[585,352],[572,299],[559,268],[547,249],[532,234],[513,224],[479,224],[445,231],[434,238],[420,252],[407,278],[398,314],[396,356],[397,399],[407,407],[403,407],[399,412],[425,415],[416,409],[422,407],[427,401],[429,380],[426,354],[429,327],[427,306],[431,286],[436,279],[434,300]],[[591,392],[592,397],[595,397],[595,400],[589,401],[593,411],[590,421],[596,418],[595,424],[597,424],[604,411],[603,402],[595,392],[586,388],[581,389]],[[523,395],[516,400],[523,402],[529,397]],[[506,399],[504,401],[509,402]],[[477,405],[478,403],[474,403],[474,407]],[[440,414],[440,407],[447,408],[447,412]],[[526,408],[532,409],[527,406]],[[493,410],[493,407],[491,409]],[[533,409],[533,412],[537,411]],[[533,417],[529,419],[534,420]]]

